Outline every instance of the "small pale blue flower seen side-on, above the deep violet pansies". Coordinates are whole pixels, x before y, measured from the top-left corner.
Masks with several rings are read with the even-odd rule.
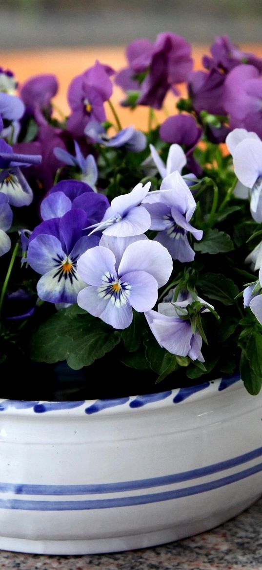
[[[70,154],[68,150],[60,148],[59,146],[55,146],[53,149],[53,153],[55,157],[64,162],[68,166],[74,166],[75,168],[79,168],[81,170],[81,180],[83,182],[87,182],[89,186],[93,190],[95,190],[95,184],[98,178],[98,170],[97,170],[97,163],[93,157],[93,154],[88,154],[88,156],[84,157],[81,153],[80,146],[76,141],[74,141],[74,150],[75,156]]]

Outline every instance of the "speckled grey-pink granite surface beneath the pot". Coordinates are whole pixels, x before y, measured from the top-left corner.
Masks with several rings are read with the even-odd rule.
[[[262,499],[209,532],[155,548],[106,555],[0,551],[0,570],[262,570]]]

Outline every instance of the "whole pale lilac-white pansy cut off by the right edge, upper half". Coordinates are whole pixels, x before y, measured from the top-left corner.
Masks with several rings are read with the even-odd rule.
[[[240,142],[238,142],[240,140]],[[250,195],[250,211],[257,223],[262,222],[262,141],[256,133],[235,129],[227,137],[236,177],[240,185],[235,190],[238,198]]]

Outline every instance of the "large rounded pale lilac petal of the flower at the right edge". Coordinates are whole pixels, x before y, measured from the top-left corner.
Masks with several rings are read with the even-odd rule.
[[[248,188],[252,188],[262,174],[262,141],[245,139],[235,149],[233,164],[235,174]]]

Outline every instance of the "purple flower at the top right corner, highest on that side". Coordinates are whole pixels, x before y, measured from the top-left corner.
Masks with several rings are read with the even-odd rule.
[[[215,42],[210,47],[210,52],[212,58],[207,55],[203,57],[203,66],[207,69],[218,67],[228,73],[240,63],[248,63],[255,66],[258,71],[262,71],[262,59],[240,50],[230,42],[227,36],[215,38]]]

